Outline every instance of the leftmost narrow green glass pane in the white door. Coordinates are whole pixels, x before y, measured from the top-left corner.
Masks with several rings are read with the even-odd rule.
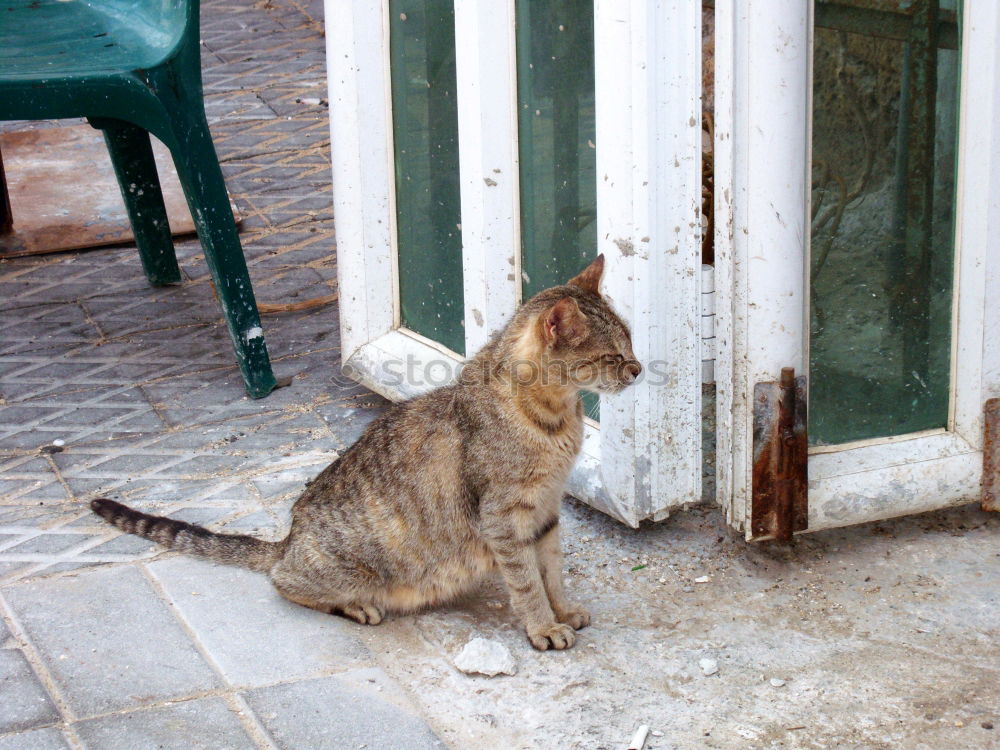
[[[390,0],[389,21],[402,322],[464,353],[454,5]]]

